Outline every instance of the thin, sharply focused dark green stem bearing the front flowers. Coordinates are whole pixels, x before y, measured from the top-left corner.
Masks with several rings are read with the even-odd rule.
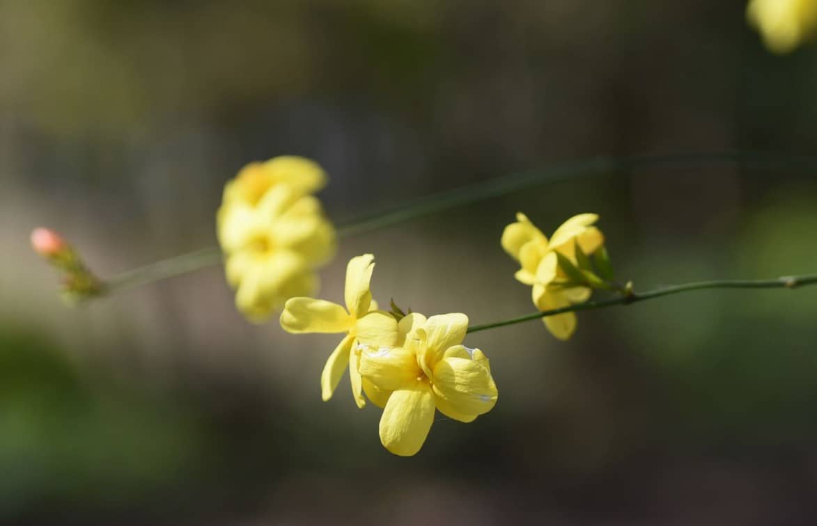
[[[569,307],[560,307],[551,309],[549,311],[533,312],[525,316],[519,316],[508,320],[495,321],[493,323],[484,323],[481,325],[471,325],[468,327],[469,333],[479,332],[480,330],[496,329],[497,327],[504,327],[506,325],[516,325],[530,320],[538,320],[545,316],[556,316],[556,314],[564,314],[565,312],[578,311],[592,311],[595,309],[613,307],[614,305],[629,305],[645,301],[647,299],[659,298],[661,296],[669,296],[672,294],[681,294],[683,292],[690,292],[691,290],[703,289],[794,289],[795,287],[815,285],[817,284],[817,274],[808,276],[783,276],[770,280],[716,280],[716,281],[695,281],[693,283],[685,283],[683,285],[673,285],[670,287],[663,287],[661,289],[648,290],[647,292],[636,293],[630,291],[628,294],[620,298],[603,299],[596,302],[579,303],[578,305],[570,305]]]

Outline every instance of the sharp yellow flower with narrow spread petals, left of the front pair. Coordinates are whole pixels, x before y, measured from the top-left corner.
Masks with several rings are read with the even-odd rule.
[[[388,312],[374,310],[377,304],[373,302],[369,290],[373,269],[372,254],[357,256],[349,261],[344,294],[346,308],[323,299],[291,298],[281,313],[281,327],[292,334],[346,333],[320,375],[324,401],[332,398],[343,370],[348,366],[355,403],[360,408],[364,407],[366,401],[358,372],[358,346],[389,348],[398,342],[397,320]]]

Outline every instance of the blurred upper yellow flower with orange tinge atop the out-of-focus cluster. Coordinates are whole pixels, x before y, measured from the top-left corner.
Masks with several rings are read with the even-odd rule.
[[[279,184],[292,188],[297,195],[306,195],[324,188],[326,179],[324,169],[304,157],[282,155],[269,161],[251,162],[226,184],[224,204],[257,205],[270,188]]]

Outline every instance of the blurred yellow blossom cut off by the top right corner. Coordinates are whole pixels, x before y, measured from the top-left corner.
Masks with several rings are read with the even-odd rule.
[[[766,47],[788,53],[817,31],[817,0],[751,0],[746,16]]]

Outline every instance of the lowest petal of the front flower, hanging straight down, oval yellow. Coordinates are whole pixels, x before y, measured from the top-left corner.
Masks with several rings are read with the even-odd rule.
[[[434,423],[434,395],[427,382],[391,393],[380,418],[380,441],[401,457],[417,453]]]

